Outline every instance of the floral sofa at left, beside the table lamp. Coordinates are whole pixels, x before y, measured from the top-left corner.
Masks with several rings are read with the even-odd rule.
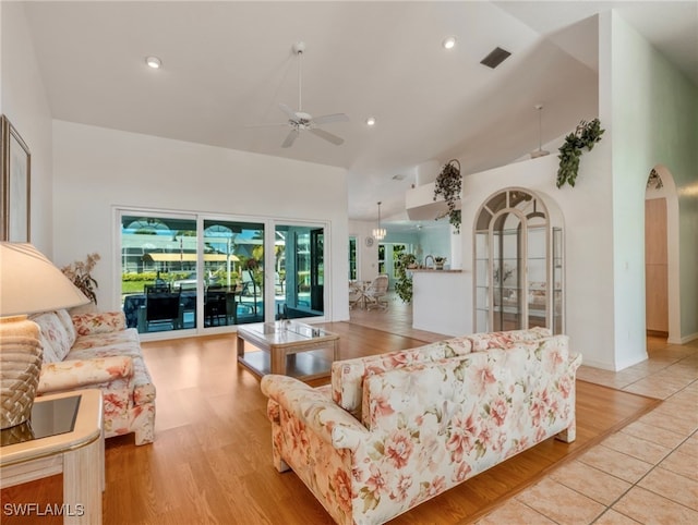
[[[123,313],[71,317],[63,309],[32,316],[32,320],[40,328],[44,347],[38,394],[98,388],[105,437],[135,432],[135,444],[153,442],[155,386],[139,333],[125,328]]]

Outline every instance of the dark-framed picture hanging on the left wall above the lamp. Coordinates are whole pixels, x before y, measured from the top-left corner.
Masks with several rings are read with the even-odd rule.
[[[7,117],[0,117],[0,241],[29,242],[32,155]]]

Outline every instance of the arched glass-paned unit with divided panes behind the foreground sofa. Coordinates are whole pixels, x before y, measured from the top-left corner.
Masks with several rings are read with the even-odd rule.
[[[549,327],[563,331],[562,228],[534,193],[489,197],[474,224],[474,326],[479,332]]]

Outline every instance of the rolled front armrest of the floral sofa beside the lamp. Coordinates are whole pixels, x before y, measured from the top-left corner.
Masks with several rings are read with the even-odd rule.
[[[75,390],[133,376],[133,359],[127,355],[46,363],[41,366],[38,393]]]

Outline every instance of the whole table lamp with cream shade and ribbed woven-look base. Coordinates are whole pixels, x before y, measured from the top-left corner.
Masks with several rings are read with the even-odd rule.
[[[39,382],[39,327],[27,315],[87,303],[33,245],[0,242],[0,429],[28,419]]]

